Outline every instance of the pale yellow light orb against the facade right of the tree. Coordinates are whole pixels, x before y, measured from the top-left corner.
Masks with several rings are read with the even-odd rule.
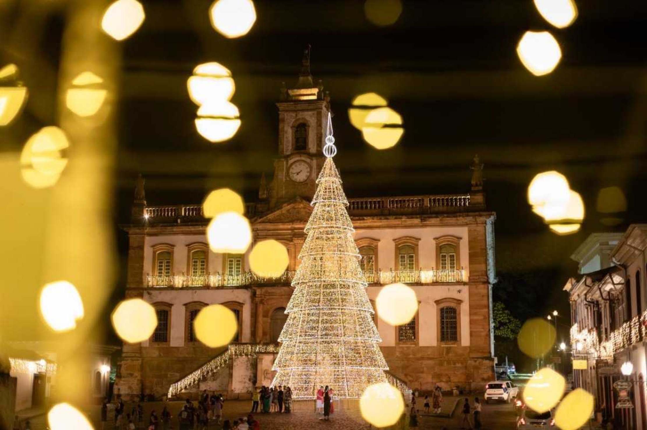
[[[418,297],[408,285],[391,283],[377,294],[375,307],[380,319],[391,325],[403,325],[418,311]]]

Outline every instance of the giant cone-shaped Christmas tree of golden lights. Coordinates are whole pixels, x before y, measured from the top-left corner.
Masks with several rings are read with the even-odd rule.
[[[278,373],[272,385],[289,385],[294,398],[314,398],[321,385],[330,385],[337,398],[358,398],[368,385],[386,382],[388,369],[378,347],[382,340],[373,323],[348,201],[333,163],[332,135],[329,114],[327,159],[317,179],[273,367]]]

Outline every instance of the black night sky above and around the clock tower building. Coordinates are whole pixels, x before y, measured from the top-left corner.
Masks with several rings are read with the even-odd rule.
[[[467,192],[470,161],[481,156],[487,206],[497,214],[497,270],[534,279],[518,288],[540,298],[507,294],[519,318],[566,315],[561,289],[576,274],[569,256],[577,245],[591,232],[645,221],[647,3],[578,1],[575,23],[558,30],[531,0],[404,0],[387,27],[367,21],[364,1],[259,0],[256,25],[239,39],[212,29],[210,1],[142,3],[146,21],[122,44],[115,225],[129,219],[138,173],[149,205],[198,203],[223,186],[252,200],[261,173],[272,173],[281,82],[296,83],[307,44],[313,76],[331,94],[335,161],[349,197]],[[49,28],[56,39],[60,19]],[[558,39],[563,58],[552,74],[535,77],[518,60],[526,30]],[[54,45],[43,47],[53,67]],[[193,126],[186,79],[206,61],[236,80],[242,125],[224,144],[208,143]],[[402,115],[397,147],[378,152],[351,127],[347,108],[362,92],[378,92]],[[32,124],[44,121],[34,106],[26,112]],[[582,194],[586,219],[577,234],[552,234],[527,205],[527,185],[544,170],[562,172]],[[613,229],[596,211],[598,190],[610,185],[628,200]],[[115,234],[125,261],[126,234]]]

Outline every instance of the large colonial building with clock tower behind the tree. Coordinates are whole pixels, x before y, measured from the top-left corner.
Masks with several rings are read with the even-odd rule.
[[[115,393],[143,391],[159,398],[213,389],[235,397],[272,381],[276,340],[287,318],[291,277],[324,161],[329,112],[307,56],[298,83],[281,92],[274,177],[269,185],[261,179],[258,201],[247,203],[246,215],[254,241],[285,244],[289,269],[279,279],[263,279],[248,271],[248,254],[211,252],[201,205],[148,205],[140,178],[126,227],[126,297],[151,303],[159,325],[146,342],[124,345]],[[485,207],[477,158],[472,169],[471,189],[466,169],[465,194],[349,196],[371,301],[383,285],[404,282],[420,302],[406,325],[393,327],[375,316],[392,382],[412,389],[431,390],[434,384],[482,389],[494,378],[495,214]],[[239,333],[224,349],[205,347],[192,331],[197,312],[212,303],[238,317]]]

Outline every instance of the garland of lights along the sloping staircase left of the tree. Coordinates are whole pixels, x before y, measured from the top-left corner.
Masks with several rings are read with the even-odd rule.
[[[226,351],[218,354],[210,362],[205,363],[196,371],[184,376],[178,382],[171,384],[168,389],[168,397],[171,398],[178,393],[197,384],[209,374],[214,373],[221,367],[228,365],[234,357],[246,356],[254,357],[262,353],[278,353],[279,347],[275,343],[232,343]]]

